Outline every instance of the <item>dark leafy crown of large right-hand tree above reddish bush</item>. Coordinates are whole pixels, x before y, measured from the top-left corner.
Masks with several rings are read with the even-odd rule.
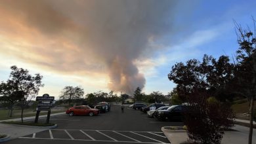
[[[230,82],[234,79],[234,64],[228,56],[216,60],[212,56],[203,56],[203,61],[188,60],[186,64],[173,65],[168,78],[177,84],[177,92],[182,101],[186,101],[195,90],[206,92],[220,101],[232,101]]]

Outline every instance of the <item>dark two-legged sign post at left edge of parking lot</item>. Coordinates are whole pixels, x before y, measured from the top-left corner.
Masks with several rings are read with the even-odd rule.
[[[40,111],[48,111],[46,123],[49,124],[51,107],[53,104],[54,96],[49,96],[49,94],[43,94],[43,96],[37,96],[35,101],[37,101],[37,114],[35,115],[35,123],[38,122]]]

